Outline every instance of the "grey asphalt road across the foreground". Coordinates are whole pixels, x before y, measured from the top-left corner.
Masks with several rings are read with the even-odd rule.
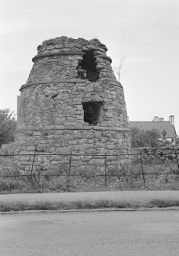
[[[0,215],[2,256],[178,256],[179,211]]]

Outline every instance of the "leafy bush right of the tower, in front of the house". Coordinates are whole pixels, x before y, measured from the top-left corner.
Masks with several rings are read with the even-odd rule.
[[[131,129],[131,146],[132,147],[158,147],[159,134],[156,129],[141,130],[139,128]]]

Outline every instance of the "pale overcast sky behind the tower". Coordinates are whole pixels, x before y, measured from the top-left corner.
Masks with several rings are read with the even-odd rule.
[[[97,37],[120,65],[129,121],[175,117],[179,132],[178,0],[0,0],[0,109],[17,96],[43,41]]]

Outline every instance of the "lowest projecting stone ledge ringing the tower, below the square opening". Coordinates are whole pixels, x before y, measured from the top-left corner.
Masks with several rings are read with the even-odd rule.
[[[120,128],[120,127],[102,127],[102,126],[80,126],[80,125],[66,125],[66,126],[49,126],[49,127],[37,127],[37,126],[28,126],[17,128],[17,131],[54,131],[54,130],[82,130],[82,131],[130,131],[129,128]]]

